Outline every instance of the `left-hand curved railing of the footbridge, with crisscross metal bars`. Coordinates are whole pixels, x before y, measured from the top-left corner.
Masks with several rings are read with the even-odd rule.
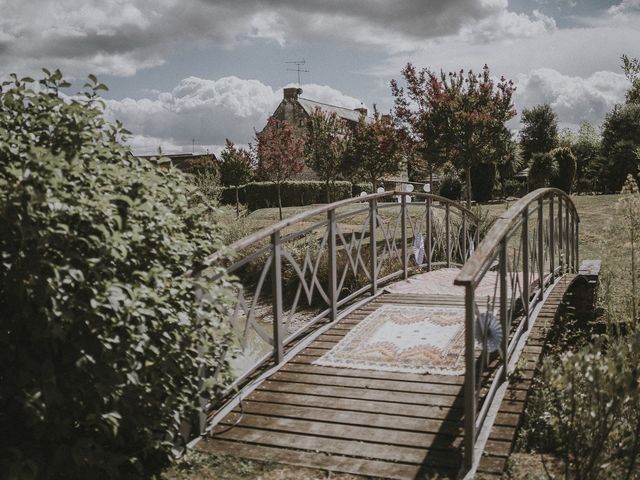
[[[206,259],[215,276],[224,258],[235,276],[228,321],[238,343],[235,388],[277,365],[317,328],[416,270],[461,266],[478,244],[476,215],[418,192],[383,192],[319,206],[282,220]],[[230,390],[228,390],[230,391]]]

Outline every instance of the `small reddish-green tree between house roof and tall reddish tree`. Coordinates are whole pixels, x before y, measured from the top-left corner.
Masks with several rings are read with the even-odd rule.
[[[347,144],[345,171],[367,178],[375,192],[382,178],[402,168],[401,138],[390,116],[375,112],[370,121],[361,116]]]

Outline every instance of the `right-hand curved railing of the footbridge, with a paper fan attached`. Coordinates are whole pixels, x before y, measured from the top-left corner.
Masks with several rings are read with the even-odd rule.
[[[467,469],[532,312],[558,276],[578,270],[578,225],[564,192],[531,192],[497,219],[455,280],[465,287]]]

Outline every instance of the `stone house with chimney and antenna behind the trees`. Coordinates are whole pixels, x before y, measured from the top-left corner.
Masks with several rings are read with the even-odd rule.
[[[350,109],[340,107],[337,105],[329,105],[327,103],[317,102],[308,98],[304,98],[301,88],[285,88],[282,101],[275,109],[271,117],[276,120],[286,121],[289,125],[293,126],[301,136],[307,134],[307,119],[317,109],[326,113],[335,113],[338,118],[343,119],[349,128],[355,128],[360,117],[365,116],[367,121],[371,121],[373,118],[368,115],[368,111],[364,107]],[[267,122],[268,124],[268,122]],[[317,180],[318,177],[315,172],[306,167],[304,170],[295,176],[294,180]],[[407,180],[406,169],[400,174],[399,177],[389,178],[385,180]]]

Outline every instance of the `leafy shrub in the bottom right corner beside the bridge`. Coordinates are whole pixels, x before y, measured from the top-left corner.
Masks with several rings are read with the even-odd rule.
[[[540,444],[560,454],[565,478],[638,478],[640,332],[547,359],[536,389]]]

